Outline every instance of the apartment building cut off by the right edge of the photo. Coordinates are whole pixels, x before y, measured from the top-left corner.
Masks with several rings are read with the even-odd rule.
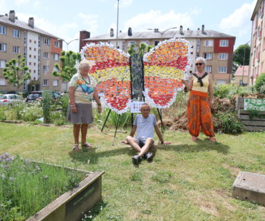
[[[250,64],[248,83],[255,84],[257,77],[261,73],[265,73],[265,33],[264,33],[264,2],[265,0],[257,0],[253,14],[251,16],[251,45],[250,45]]]

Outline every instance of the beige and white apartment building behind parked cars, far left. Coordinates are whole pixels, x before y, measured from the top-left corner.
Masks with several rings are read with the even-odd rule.
[[[10,91],[61,90],[61,81],[52,75],[55,64],[60,62],[62,40],[35,27],[34,18],[28,23],[19,21],[15,11],[0,15],[0,93]],[[26,58],[30,79],[16,88],[3,78],[7,61],[22,55]]]

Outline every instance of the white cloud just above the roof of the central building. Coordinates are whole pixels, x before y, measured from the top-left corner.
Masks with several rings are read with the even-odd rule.
[[[151,10],[145,14],[136,15],[125,21],[123,25],[123,30],[127,30],[131,27],[133,30],[147,30],[147,28],[162,28],[167,29],[171,27],[179,27],[179,26],[192,28],[194,23],[192,21],[192,17],[188,12],[174,12],[174,10],[170,10],[165,14],[162,14],[159,10]]]

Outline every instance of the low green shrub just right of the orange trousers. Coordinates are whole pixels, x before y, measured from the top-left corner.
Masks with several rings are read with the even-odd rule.
[[[219,129],[219,132],[237,134],[244,131],[242,124],[235,113],[220,113],[217,115],[218,122],[214,122],[214,127]]]

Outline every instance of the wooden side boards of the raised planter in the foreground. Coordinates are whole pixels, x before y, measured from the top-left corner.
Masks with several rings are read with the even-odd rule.
[[[57,165],[53,165],[57,166]],[[70,169],[70,168],[66,168]],[[82,171],[82,170],[77,170]],[[61,195],[26,221],[78,221],[101,198],[102,174],[90,172],[73,190]]]

